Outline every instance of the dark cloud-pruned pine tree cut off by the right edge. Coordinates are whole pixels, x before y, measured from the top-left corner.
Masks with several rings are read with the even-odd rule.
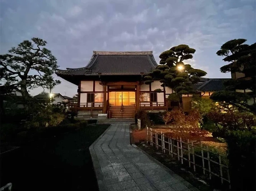
[[[252,45],[243,44],[246,39],[234,39],[226,42],[221,49],[216,52],[218,56],[223,56],[228,65],[222,66],[223,73],[244,73],[247,78],[231,79],[225,85],[231,89],[245,89],[248,93],[235,91],[217,91],[211,95],[215,101],[225,101],[236,105],[243,110],[250,110],[255,113],[255,104],[249,105],[248,100],[256,97],[256,43]]]

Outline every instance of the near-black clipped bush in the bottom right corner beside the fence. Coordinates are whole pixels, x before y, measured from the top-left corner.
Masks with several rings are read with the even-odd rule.
[[[256,190],[256,135],[253,131],[231,131],[226,138],[231,189]]]

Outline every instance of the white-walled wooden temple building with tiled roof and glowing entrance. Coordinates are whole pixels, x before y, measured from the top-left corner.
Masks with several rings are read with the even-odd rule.
[[[156,66],[152,51],[93,51],[86,67],[58,70],[56,74],[78,86],[78,103],[71,104],[71,110],[77,111],[78,116],[97,117],[99,113],[108,113],[110,118],[134,118],[139,109],[160,112],[175,107],[175,103],[168,105],[167,102],[168,95],[174,92],[171,88],[156,93],[155,89],[162,89],[160,81],[144,84],[144,76]],[[207,82],[215,84],[215,80],[201,78],[198,88]],[[202,95],[205,95],[203,92],[210,95],[211,89],[206,91],[203,87]],[[191,96],[184,95],[188,102],[188,106],[184,106],[186,110],[189,110]]]

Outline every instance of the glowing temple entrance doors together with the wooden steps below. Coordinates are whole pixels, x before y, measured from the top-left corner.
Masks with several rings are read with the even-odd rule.
[[[135,92],[109,92],[109,112],[111,118],[134,118]]]

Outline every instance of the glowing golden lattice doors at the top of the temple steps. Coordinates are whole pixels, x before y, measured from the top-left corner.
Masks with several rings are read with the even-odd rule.
[[[109,104],[112,106],[135,105],[135,92],[109,92]]]

